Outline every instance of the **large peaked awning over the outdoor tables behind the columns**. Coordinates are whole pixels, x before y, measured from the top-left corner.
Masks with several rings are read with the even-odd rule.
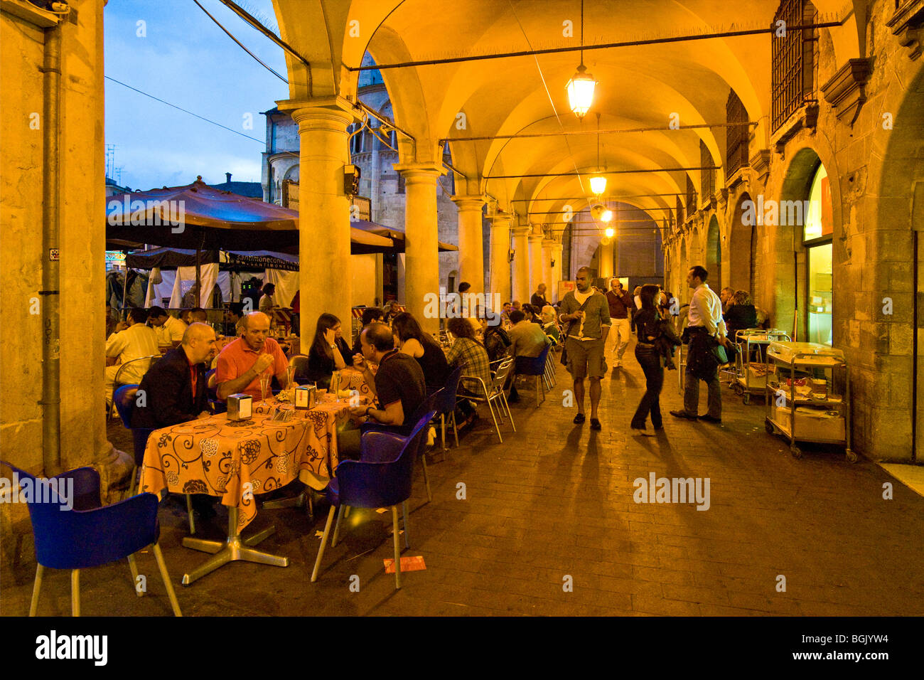
[[[222,192],[197,179],[187,186],[107,197],[106,240],[116,245],[114,250],[151,243],[203,251],[298,253],[298,212]],[[391,239],[357,227],[350,229],[350,242],[352,254],[395,248]]]

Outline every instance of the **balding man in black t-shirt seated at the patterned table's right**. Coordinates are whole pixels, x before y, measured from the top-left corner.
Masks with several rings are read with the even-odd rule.
[[[410,434],[416,423],[411,416],[427,397],[427,384],[417,359],[398,352],[391,328],[372,324],[359,334],[362,354],[353,356],[353,365],[362,369],[363,377],[375,394],[373,406],[354,406],[350,413],[357,418],[369,417],[372,422],[394,427],[396,433]],[[369,364],[378,364],[372,376]],[[348,427],[337,435],[337,453],[341,458],[359,456],[359,429]]]

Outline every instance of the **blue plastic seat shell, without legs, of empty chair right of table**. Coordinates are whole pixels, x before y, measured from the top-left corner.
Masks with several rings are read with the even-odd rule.
[[[417,460],[416,451],[424,427],[435,414],[435,411],[423,414],[408,437],[389,432],[364,434],[363,439],[374,437],[367,446],[394,451],[400,442],[400,451],[395,460],[388,462],[343,461],[337,465],[340,501],[356,508],[382,508],[407,501],[411,493],[414,462]]]

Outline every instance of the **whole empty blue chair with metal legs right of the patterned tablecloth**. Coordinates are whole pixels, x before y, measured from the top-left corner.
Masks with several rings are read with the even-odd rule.
[[[419,419],[417,425],[407,437],[388,432],[368,432],[360,440],[359,461],[343,461],[337,465],[336,476],[328,483],[325,492],[331,501],[327,513],[327,524],[321,538],[321,548],[314,561],[311,582],[318,579],[318,570],[324,555],[324,546],[331,532],[334,521],[334,509],[337,524],[334,527],[333,548],[340,533],[340,520],[346,508],[383,508],[392,509],[392,526],[395,539],[395,589],[401,587],[401,548],[398,540],[398,503],[404,516],[405,545],[410,546],[407,526],[407,499],[410,498],[411,476],[414,469],[414,455],[423,437],[423,428],[427,427],[435,411],[428,411]]]

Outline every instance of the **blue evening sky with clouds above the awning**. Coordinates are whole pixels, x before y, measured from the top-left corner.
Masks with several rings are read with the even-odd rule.
[[[263,62],[286,77],[283,51],[217,0],[199,0]],[[271,0],[238,3],[275,29]],[[105,80],[105,142],[116,144],[121,184],[152,189],[188,184],[260,181],[266,118],[261,111],[288,98],[288,86],[237,46],[192,0],[109,0],[105,7],[105,74],[237,130],[192,117]],[[138,37],[144,21],[146,37]],[[245,129],[245,114],[252,129]],[[115,178],[114,178],[115,179]]]

